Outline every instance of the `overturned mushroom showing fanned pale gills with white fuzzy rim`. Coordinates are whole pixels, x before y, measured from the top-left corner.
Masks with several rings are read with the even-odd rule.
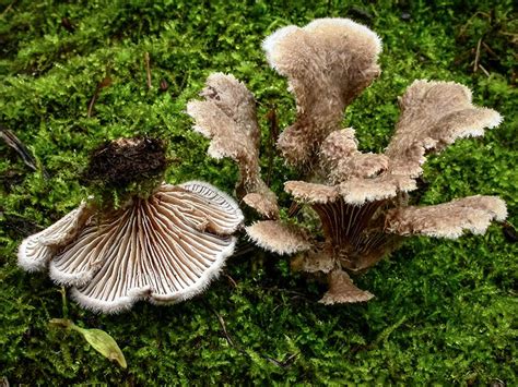
[[[175,303],[200,293],[234,251],[237,204],[214,186],[162,184],[104,214],[82,204],[19,250],[25,269],[49,265],[83,306],[114,313],[148,299]]]

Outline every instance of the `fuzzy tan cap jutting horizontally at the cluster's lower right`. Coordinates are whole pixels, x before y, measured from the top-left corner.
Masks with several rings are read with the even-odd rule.
[[[468,196],[435,206],[400,207],[388,211],[386,231],[400,235],[422,234],[457,239],[463,230],[484,233],[490,222],[502,221],[507,210],[495,196]]]

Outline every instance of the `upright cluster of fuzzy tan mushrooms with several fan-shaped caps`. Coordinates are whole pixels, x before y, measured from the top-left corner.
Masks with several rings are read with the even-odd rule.
[[[254,184],[245,186],[256,199],[243,201],[267,219],[246,228],[249,238],[271,252],[296,254],[294,267],[326,275],[329,291],[322,303],[373,298],[355,287],[348,273],[373,266],[403,237],[458,238],[464,230],[483,233],[492,220],[505,219],[506,205],[496,196],[410,205],[427,154],[457,138],[483,135],[484,129],[502,121],[495,110],[473,106],[467,87],[413,82],[399,100],[400,119],[386,152],[362,153],[354,130],[342,129],[341,121],[346,106],[380,73],[380,38],[350,20],[321,19],[303,28],[281,28],[262,47],[270,65],[287,77],[297,105],[295,122],[276,145],[302,180],[289,181],[284,189],[318,215],[323,241],[311,237],[315,230],[262,210],[263,203],[276,201],[260,178],[258,162],[251,167],[244,161],[257,160],[259,144],[255,102],[240,82],[232,75],[211,75],[201,94],[204,100],[191,101],[188,113],[195,129],[212,138],[211,155],[237,161],[242,180],[252,177]],[[232,128],[239,141],[228,145],[231,130],[225,128]]]

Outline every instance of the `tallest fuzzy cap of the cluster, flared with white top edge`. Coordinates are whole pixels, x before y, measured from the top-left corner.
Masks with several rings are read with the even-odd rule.
[[[308,165],[326,136],[339,129],[344,108],[380,73],[380,38],[348,19],[287,26],[262,44],[270,65],[289,78],[296,122],[278,145],[290,164]]]

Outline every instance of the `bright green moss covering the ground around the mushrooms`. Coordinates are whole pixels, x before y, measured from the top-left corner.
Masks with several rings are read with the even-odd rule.
[[[261,39],[322,16],[367,23],[384,40],[382,75],[345,114],[362,148],[387,145],[397,96],[414,78],[463,83],[476,104],[503,113],[504,123],[485,137],[431,158],[422,201],[497,194],[517,225],[510,0],[0,3],[0,122],[49,174],[33,172],[0,144],[0,376],[31,385],[516,385],[517,247],[498,225],[482,237],[409,241],[357,280],[374,300],[332,307],[316,302],[322,288],[290,273],[285,258],[257,251],[231,258],[224,275],[192,301],[95,315],[73,302],[63,306],[59,288],[45,274],[17,268],[15,257],[24,237],[87,195],[79,177],[91,150],[107,140],[163,137],[173,160],[167,181],[207,180],[232,192],[235,166],[207,157],[207,141],[189,130],[186,101],[209,73],[234,73],[258,99],[267,144],[268,110],[276,107],[284,128],[294,101],[285,80],[268,69]],[[483,69],[473,72],[478,46]],[[109,85],[99,88],[87,117],[103,80]],[[278,193],[286,176],[293,172],[276,159]],[[63,314],[108,331],[128,368],[109,363],[79,335],[49,328],[50,318]]]

